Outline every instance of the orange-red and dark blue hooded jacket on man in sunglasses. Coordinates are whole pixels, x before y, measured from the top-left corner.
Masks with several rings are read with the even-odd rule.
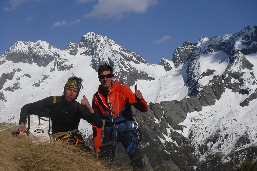
[[[107,94],[100,85],[93,96],[92,107],[105,120],[105,128],[111,127],[116,123],[125,122],[131,118],[130,105],[133,105],[140,112],[147,112],[148,110],[147,102],[144,99],[137,101],[134,92],[129,87],[121,85],[118,81],[112,81],[112,86]],[[93,137],[95,149],[99,149],[101,145],[101,128],[93,125]]]

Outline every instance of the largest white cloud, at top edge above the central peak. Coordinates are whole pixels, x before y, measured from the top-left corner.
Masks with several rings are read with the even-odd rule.
[[[122,18],[123,13],[144,13],[149,6],[157,3],[157,0],[99,0],[85,18]]]

